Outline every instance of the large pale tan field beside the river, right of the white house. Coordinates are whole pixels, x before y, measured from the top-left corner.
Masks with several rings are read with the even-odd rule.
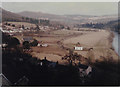
[[[65,40],[64,45],[68,46],[69,44],[80,42],[81,46],[84,48],[93,48],[91,51],[75,51],[86,58],[91,58],[93,62],[96,60],[117,61],[118,55],[112,47],[113,38],[114,34],[107,30],[86,32],[86,34],[83,34],[82,36]]]

